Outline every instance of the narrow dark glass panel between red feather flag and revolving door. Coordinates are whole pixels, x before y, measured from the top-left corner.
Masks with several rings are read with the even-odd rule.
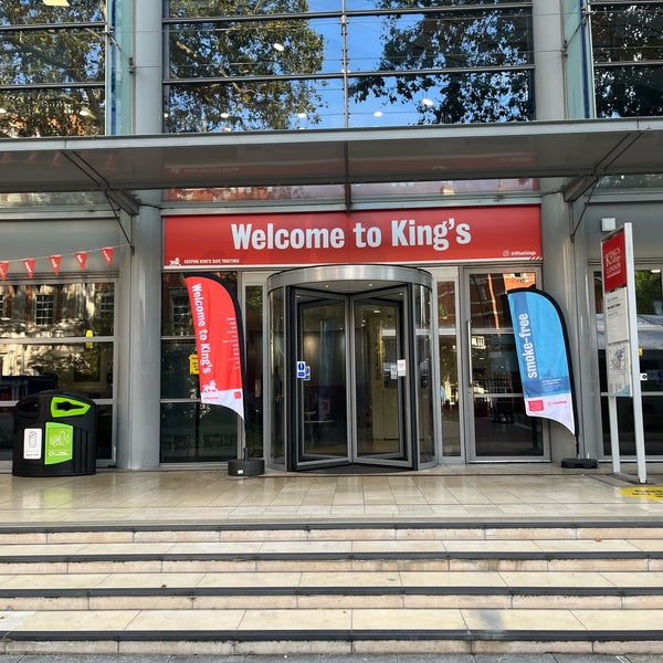
[[[246,448],[249,456],[263,456],[263,287],[252,285],[245,290],[246,340]]]

